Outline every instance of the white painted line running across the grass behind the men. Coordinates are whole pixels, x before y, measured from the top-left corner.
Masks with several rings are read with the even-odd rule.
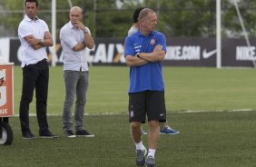
[[[234,109],[234,110],[185,110],[185,111],[175,111],[174,113],[205,113],[205,112],[250,112],[253,109]],[[84,115],[127,115],[128,113],[85,113]],[[48,116],[61,116],[62,114],[47,114]],[[19,116],[14,114],[13,116]],[[36,116],[36,114],[31,113],[29,116]]]

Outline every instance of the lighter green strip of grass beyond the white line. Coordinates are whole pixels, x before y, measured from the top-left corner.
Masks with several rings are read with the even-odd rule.
[[[166,107],[176,111],[256,110],[256,70],[164,67]],[[86,113],[127,113],[129,68],[93,66]],[[15,66],[15,113],[18,113],[22,71]],[[50,69],[48,113],[62,114],[62,67]],[[31,113],[34,103],[31,104]]]

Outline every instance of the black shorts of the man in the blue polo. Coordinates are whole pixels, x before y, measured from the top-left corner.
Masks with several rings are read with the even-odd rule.
[[[129,122],[166,122],[166,109],[163,91],[129,93]]]

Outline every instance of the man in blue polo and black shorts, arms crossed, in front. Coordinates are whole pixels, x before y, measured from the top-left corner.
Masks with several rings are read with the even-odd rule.
[[[164,34],[155,31],[157,15],[145,8],[139,15],[140,30],[125,38],[124,56],[130,66],[129,121],[136,145],[136,163],[156,166],[154,154],[160,138],[159,123],[166,121],[162,60],[166,53]],[[148,117],[149,152],[142,141],[141,125]]]

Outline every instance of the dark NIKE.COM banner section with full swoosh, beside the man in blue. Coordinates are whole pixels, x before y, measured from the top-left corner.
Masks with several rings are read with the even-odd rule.
[[[214,38],[166,39],[167,53],[164,64],[172,66],[216,66]]]

